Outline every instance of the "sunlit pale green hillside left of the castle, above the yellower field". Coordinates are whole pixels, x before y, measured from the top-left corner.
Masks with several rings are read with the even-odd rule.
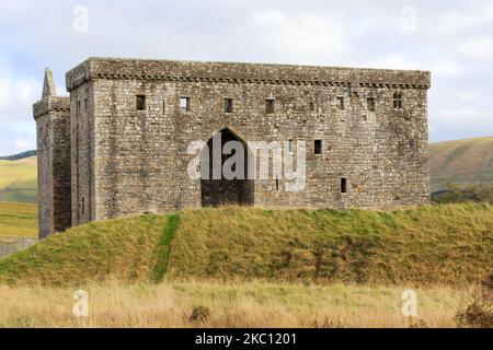
[[[36,156],[0,161],[0,201],[37,201]]]

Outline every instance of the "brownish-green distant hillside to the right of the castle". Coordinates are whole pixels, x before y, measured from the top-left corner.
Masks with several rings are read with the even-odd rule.
[[[432,190],[452,182],[493,185],[493,137],[432,143]]]

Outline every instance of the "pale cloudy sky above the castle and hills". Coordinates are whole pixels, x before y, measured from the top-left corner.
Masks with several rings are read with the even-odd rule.
[[[493,0],[1,0],[0,155],[35,148],[45,67],[66,94],[90,56],[431,70],[431,140],[493,135]]]

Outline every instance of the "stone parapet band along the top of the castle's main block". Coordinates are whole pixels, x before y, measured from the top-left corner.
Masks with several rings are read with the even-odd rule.
[[[72,91],[94,79],[394,89],[431,88],[428,71],[89,58],[67,73],[67,90]]]

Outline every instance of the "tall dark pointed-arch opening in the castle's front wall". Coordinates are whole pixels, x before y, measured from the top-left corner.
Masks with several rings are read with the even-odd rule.
[[[222,154],[223,150],[231,154]],[[254,184],[252,177],[249,179],[252,153],[241,138],[229,129],[222,129],[208,140],[202,158],[208,159],[208,172],[200,168],[203,207],[253,205]]]

